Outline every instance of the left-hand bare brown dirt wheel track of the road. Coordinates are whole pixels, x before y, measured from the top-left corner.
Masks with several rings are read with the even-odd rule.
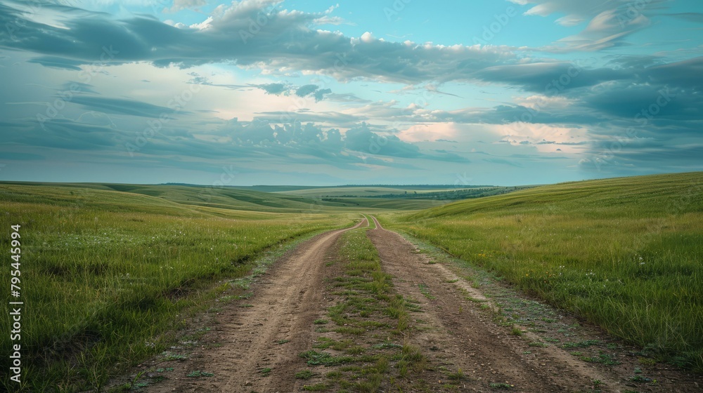
[[[335,243],[343,232],[366,225],[368,222],[362,220],[352,228],[305,241],[264,274],[246,301],[247,307],[223,309],[218,326],[221,347],[196,352],[186,366],[190,371],[213,373],[212,377],[181,376],[153,385],[148,392],[301,390],[302,382],[294,375],[298,354],[309,349],[313,321],[322,307],[325,260],[333,258]],[[264,368],[271,371],[263,373]]]

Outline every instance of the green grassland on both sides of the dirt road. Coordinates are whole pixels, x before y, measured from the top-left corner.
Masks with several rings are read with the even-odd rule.
[[[26,387],[101,387],[162,352],[205,300],[223,291],[244,295],[229,280],[251,274],[264,251],[352,225],[359,212],[662,360],[703,370],[703,173],[572,182],[452,204],[315,197],[0,183],[2,248],[11,248],[11,225],[21,225]],[[3,282],[10,270],[0,270]],[[9,291],[4,300],[13,300]],[[9,318],[2,313],[0,324],[10,326]],[[3,340],[0,351],[10,353],[9,345]],[[7,369],[9,359],[0,366]]]

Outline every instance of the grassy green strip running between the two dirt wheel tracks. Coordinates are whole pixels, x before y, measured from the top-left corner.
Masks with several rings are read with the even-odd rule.
[[[461,371],[447,370],[449,381],[440,387],[423,379],[432,366],[409,343],[417,321],[413,314],[421,310],[396,293],[367,230],[344,234],[340,258],[328,263],[335,272],[328,293],[338,300],[328,308],[327,319],[315,321],[320,335],[312,349],[300,354],[307,367],[295,377],[311,380],[304,385],[308,391],[453,391],[453,382],[463,379]]]

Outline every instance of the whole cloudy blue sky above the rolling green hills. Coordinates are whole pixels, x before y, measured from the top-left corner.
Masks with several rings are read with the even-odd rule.
[[[0,0],[0,180],[703,170],[700,0]]]

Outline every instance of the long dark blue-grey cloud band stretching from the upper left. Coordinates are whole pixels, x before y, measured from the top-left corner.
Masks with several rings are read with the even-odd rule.
[[[60,57],[70,65],[109,60],[191,67],[234,60],[243,66],[325,72],[339,79],[367,76],[417,82],[467,79],[477,69],[515,59],[498,48],[408,46],[370,35],[356,39],[309,28],[321,13],[269,11],[266,25],[256,34],[248,33],[251,21],[262,15],[262,4],[256,1],[227,8],[205,29],[180,29],[146,15],[115,20],[78,8],[65,12],[65,26],[60,28],[34,22],[11,6],[2,9],[1,25],[24,27],[12,36],[0,36],[1,47]]]

